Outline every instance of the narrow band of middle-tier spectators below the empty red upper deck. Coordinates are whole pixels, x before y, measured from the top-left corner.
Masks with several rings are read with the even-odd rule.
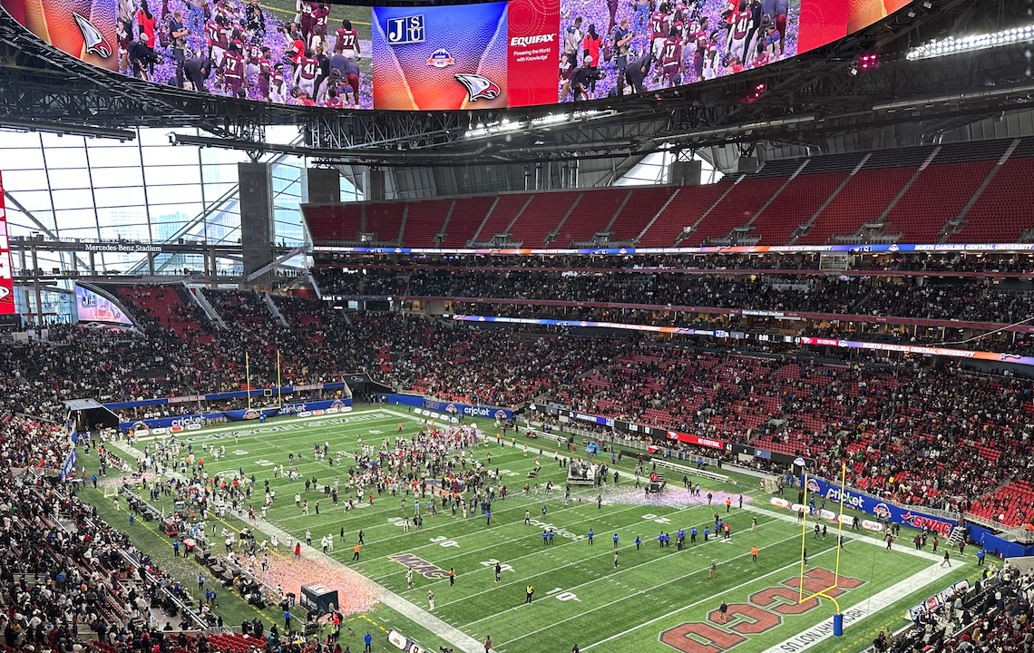
[[[1034,317],[1029,283],[1003,290],[986,279],[324,268],[317,283],[325,292],[349,297],[596,302],[1003,323]]]

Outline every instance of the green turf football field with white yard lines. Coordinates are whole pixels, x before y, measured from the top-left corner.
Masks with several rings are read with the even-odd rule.
[[[972,557],[955,560],[955,566],[948,569],[939,567],[939,556],[929,550],[920,556],[895,545],[893,551],[886,552],[882,540],[871,534],[849,533],[840,560],[845,578],[834,591],[847,626],[844,638],[832,638],[824,625],[833,613],[830,600],[797,603],[801,527],[795,516],[768,505],[768,497],[760,494],[757,478],[752,476],[731,473],[733,480],[741,484],[739,487],[700,479],[703,495],[709,491],[724,500],[723,493],[732,493],[733,506],[728,515],[732,537],[705,543],[698,536],[696,543],[688,543],[681,552],[675,548],[675,531],[696,526],[702,532],[704,526],[713,526],[716,514],[726,516],[724,503],[708,506],[703,500],[679,505],[670,498],[645,503],[640,491],[631,488],[633,461],[626,460],[626,464],[617,466],[622,472],[618,486],[602,491],[602,507],[597,504],[598,491],[588,488],[576,488],[575,501],[566,505],[566,470],[554,462],[555,444],[544,438],[520,438],[516,447],[508,439],[503,448],[493,443],[473,454],[479,460],[487,460],[490,455],[490,467],[499,470],[511,492],[506,500],[492,504],[490,526],[484,516],[464,520],[460,514],[453,517],[439,507],[437,517],[424,511],[422,531],[410,528],[403,532],[402,519],[413,518],[413,496],[405,497],[405,510],[401,496],[385,494],[374,497],[372,505],[367,500],[361,504],[364,507],[345,515],[323,492],[304,492],[304,478],[312,476],[321,485],[332,484],[336,476],[343,486],[353,463],[351,455],[342,460],[340,468],[315,462],[311,457],[313,443],[329,441],[333,458],[337,450],[357,450],[360,437],[379,445],[382,438],[394,437],[399,422],[403,424],[403,435],[415,433],[418,416],[404,409],[394,410],[397,412],[356,410],[344,415],[279,421],[262,427],[242,425],[178,436],[181,440],[190,438],[195,452],[203,441],[225,445],[225,459],[213,463],[206,458],[209,474],[243,468],[246,475],[255,475],[260,490],[263,479],[270,479],[276,502],[268,511],[270,526],[260,522],[260,540],[274,528],[296,539],[303,538],[309,529],[318,548],[320,537],[334,533],[335,550],[330,554],[334,564],[346,565],[385,588],[383,600],[372,612],[349,617],[347,623],[357,631],[369,628],[383,635],[395,627],[429,651],[449,644],[457,650],[477,651],[491,635],[492,648],[499,653],[566,652],[576,644],[582,651],[601,652],[718,653],[735,649],[743,653],[796,653],[810,649],[846,653],[864,648],[881,627],[901,627],[907,608],[975,571],[969,563]],[[491,430],[487,421],[481,426]],[[525,441],[531,447],[527,456],[523,454]],[[141,441],[136,446],[143,448],[146,444]],[[547,480],[558,484],[559,490],[552,496],[546,496],[544,490],[536,494],[535,480],[530,481],[531,492],[521,492],[540,446],[542,472],[538,483],[542,488]],[[272,465],[282,463],[290,468],[290,453],[305,456],[302,464],[297,459],[295,462],[303,479],[274,479]],[[678,485],[672,479],[673,485]],[[321,514],[303,516],[294,503],[296,492],[302,493],[310,506],[318,499]],[[672,496],[679,492],[669,490]],[[739,493],[746,497],[742,509],[736,507]],[[348,491],[342,487],[340,495],[346,498]],[[92,491],[85,498],[105,502]],[[252,499],[255,506],[262,503],[258,496]],[[111,507],[105,505],[104,509]],[[524,524],[525,510],[530,512],[531,525]],[[105,512],[104,517],[111,516]],[[758,530],[752,533],[753,518],[757,519]],[[236,516],[224,524],[234,529],[245,525]],[[543,542],[542,524],[552,525],[558,533],[552,546]],[[343,542],[338,537],[341,528],[345,530]],[[586,538],[590,528],[596,532],[591,546]],[[366,546],[357,563],[352,561],[352,546],[360,529]],[[670,548],[662,549],[656,539],[662,530],[671,533]],[[619,539],[616,549],[612,541],[615,533]],[[833,533],[830,529],[825,539],[808,534],[804,587],[809,592],[831,585],[838,556]],[[640,548],[633,543],[637,536],[644,540]],[[902,541],[910,537],[903,533]],[[171,555],[168,540],[161,535],[142,532],[140,546],[145,550],[162,545],[163,555]],[[755,546],[759,549],[756,562],[751,556]],[[218,549],[222,549],[221,543]],[[282,543],[280,555],[290,561]],[[712,559],[717,561],[717,578],[710,579]],[[496,560],[506,565],[500,583],[494,582],[492,567]],[[407,587],[405,565],[415,568],[412,589]],[[453,586],[440,578],[450,568],[456,572]],[[525,604],[528,585],[535,594],[531,603]],[[433,611],[428,605],[429,590],[435,594]],[[298,592],[298,588],[284,591]],[[730,607],[724,624],[717,613],[723,599]],[[243,601],[227,605],[232,612],[225,618],[230,622],[241,615],[254,616],[253,609]],[[278,620],[277,614],[275,610],[266,611],[266,619]],[[384,636],[374,642],[375,650],[392,650]],[[354,650],[359,648],[355,642],[353,645]]]

